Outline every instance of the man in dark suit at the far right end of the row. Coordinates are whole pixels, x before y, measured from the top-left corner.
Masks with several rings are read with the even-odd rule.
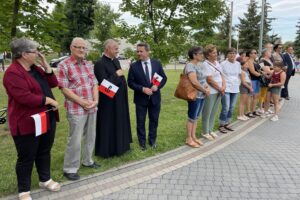
[[[288,84],[291,76],[295,75],[296,65],[293,59],[293,53],[294,53],[294,49],[292,46],[289,45],[286,49],[286,53],[283,54],[283,62],[287,66],[287,68],[286,68],[286,79],[284,83],[284,88],[282,88],[281,90],[281,97],[285,98],[286,100],[290,100]]]

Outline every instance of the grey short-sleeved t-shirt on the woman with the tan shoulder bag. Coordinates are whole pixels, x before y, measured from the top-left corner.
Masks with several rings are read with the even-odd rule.
[[[199,81],[200,85],[206,85],[205,67],[202,62],[199,62],[197,65],[188,63],[185,67],[185,73],[189,74],[192,72],[196,73],[197,80]],[[205,95],[203,92],[198,91],[197,98],[203,99],[204,97]]]

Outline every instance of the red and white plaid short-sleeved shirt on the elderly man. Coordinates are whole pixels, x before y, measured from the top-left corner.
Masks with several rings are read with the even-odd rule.
[[[93,101],[93,87],[98,84],[93,67],[91,62],[83,60],[79,63],[73,56],[70,56],[58,64],[58,86],[70,89],[82,99]],[[73,115],[97,111],[97,107],[84,110],[79,104],[67,98],[65,98],[65,108]]]

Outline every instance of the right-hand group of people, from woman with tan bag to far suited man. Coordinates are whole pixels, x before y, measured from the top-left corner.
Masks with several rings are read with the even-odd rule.
[[[279,49],[279,50],[278,50]],[[186,144],[193,148],[203,145],[196,136],[197,119],[202,113],[202,137],[213,140],[218,137],[213,132],[215,116],[221,103],[219,116],[221,133],[234,131],[230,126],[231,118],[240,93],[238,119],[245,121],[256,116],[279,119],[280,95],[287,100],[288,83],[295,73],[293,47],[288,46],[286,53],[281,53],[282,45],[266,44],[262,56],[258,59],[255,49],[242,52],[237,56],[234,48],[226,51],[227,59],[217,61],[215,45],[192,47],[188,51],[190,62],[185,66],[194,88],[198,90],[195,101],[188,101],[188,119],[186,124]],[[259,109],[257,104],[259,103]],[[274,104],[274,111],[269,109]],[[245,112],[246,110],[246,112]]]

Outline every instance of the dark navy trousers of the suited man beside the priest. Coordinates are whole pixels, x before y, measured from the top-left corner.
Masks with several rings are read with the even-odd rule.
[[[149,117],[148,142],[150,145],[153,145],[156,142],[160,103],[153,105],[151,101],[149,101],[147,106],[135,105],[137,136],[141,146],[146,144],[145,121],[147,111]]]

